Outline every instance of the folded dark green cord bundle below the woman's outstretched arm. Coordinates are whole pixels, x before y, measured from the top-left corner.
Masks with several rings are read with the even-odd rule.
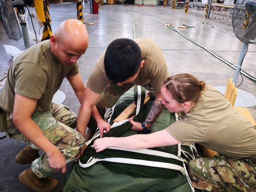
[[[169,164],[175,164],[178,166],[183,166],[182,161],[173,158],[166,158],[160,156],[154,156],[149,154],[140,154],[136,152],[107,149],[102,152],[96,153],[95,149],[90,147],[85,150],[86,156],[84,154],[80,157],[80,162],[86,164],[91,157],[104,159],[104,158],[130,158],[136,160],[146,160],[154,162],[164,162]],[[81,159],[82,158],[82,159]],[[108,170],[113,172],[118,172],[121,174],[126,174],[132,177],[140,178],[174,178],[178,176],[179,170],[173,170],[168,168],[159,168],[152,166],[142,166],[136,164],[125,164],[125,163],[113,163],[108,161],[101,161]]]

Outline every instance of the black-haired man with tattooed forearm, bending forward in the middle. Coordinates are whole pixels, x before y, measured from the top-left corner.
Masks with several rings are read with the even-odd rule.
[[[134,85],[141,85],[156,96],[146,121],[134,122],[132,130],[149,132],[150,126],[161,114],[161,86],[170,76],[161,48],[150,38],[121,38],[111,42],[98,59],[87,82],[86,92],[78,113],[77,130],[85,134],[89,130],[86,142],[92,138],[97,128],[91,118],[92,107],[96,105],[103,117],[106,108],[111,108],[127,90]],[[90,120],[90,121],[89,121]],[[100,128],[103,135],[103,128]]]

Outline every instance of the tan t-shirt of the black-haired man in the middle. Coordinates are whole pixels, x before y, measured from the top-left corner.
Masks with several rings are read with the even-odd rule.
[[[138,38],[134,41],[140,46],[145,63],[132,84],[146,86],[159,93],[164,80],[170,76],[164,54],[150,38]],[[87,87],[97,94],[101,94],[105,86],[111,83],[104,69],[104,56],[105,52],[97,60],[87,82]]]

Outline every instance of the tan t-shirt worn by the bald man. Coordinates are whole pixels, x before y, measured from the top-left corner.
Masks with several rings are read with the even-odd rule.
[[[78,73],[78,63],[64,66],[52,54],[49,40],[45,40],[19,54],[11,64],[0,94],[0,106],[13,112],[16,93],[38,99],[35,112],[45,112],[63,79]]]

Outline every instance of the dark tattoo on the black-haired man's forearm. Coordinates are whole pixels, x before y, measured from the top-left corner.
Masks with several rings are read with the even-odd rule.
[[[156,121],[156,119],[160,116],[163,110],[164,105],[161,103],[160,100],[155,99],[148,114],[148,117],[145,121],[145,124],[151,126],[151,124],[153,124]]]

